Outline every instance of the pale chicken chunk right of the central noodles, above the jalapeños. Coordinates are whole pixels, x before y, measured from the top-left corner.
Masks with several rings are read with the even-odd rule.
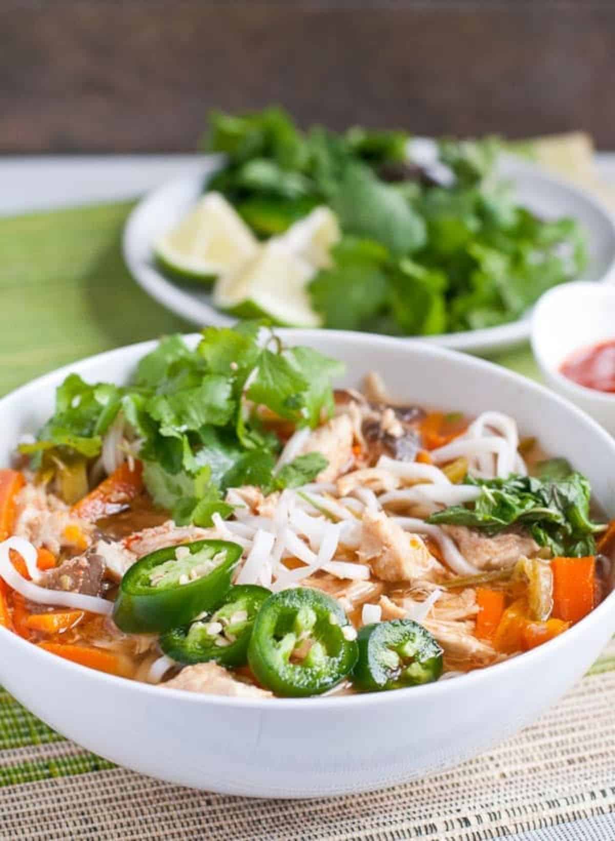
[[[365,509],[359,558],[382,581],[434,580],[444,574],[423,538],[404,532],[384,511]]]

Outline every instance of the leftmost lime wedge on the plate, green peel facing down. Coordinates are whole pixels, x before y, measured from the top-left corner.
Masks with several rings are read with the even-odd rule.
[[[154,248],[157,261],[167,272],[199,281],[236,272],[258,250],[250,228],[220,193],[206,193]]]

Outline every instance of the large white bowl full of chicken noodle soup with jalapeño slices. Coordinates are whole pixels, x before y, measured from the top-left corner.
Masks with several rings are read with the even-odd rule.
[[[2,403],[0,680],[142,773],[394,785],[532,722],[615,630],[615,442],[490,363],[209,328]]]

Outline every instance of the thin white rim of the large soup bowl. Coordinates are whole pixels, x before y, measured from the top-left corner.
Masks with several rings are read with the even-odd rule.
[[[276,333],[280,333],[282,336],[285,336],[291,341],[294,338],[296,338],[297,341],[302,341],[302,339],[318,339],[323,334],[323,331],[300,328],[279,328],[276,329]],[[593,431],[594,435],[598,436],[606,447],[609,447],[611,449],[615,447],[615,441],[613,441],[612,436],[610,436],[607,433],[607,431],[605,431],[602,428],[602,426],[600,426],[597,423],[597,421],[594,421],[590,415],[587,415],[586,412],[579,409],[576,405],[570,403],[569,400],[560,397],[559,394],[555,394],[555,392],[546,389],[539,383],[534,383],[532,380],[523,377],[521,374],[509,371],[507,370],[507,368],[502,368],[494,362],[488,362],[478,357],[470,357],[464,353],[451,351],[448,348],[434,346],[423,341],[400,341],[399,339],[391,336],[378,336],[370,333],[356,333],[352,331],[326,331],[326,334],[327,336],[334,337],[338,341],[360,341],[361,343],[364,343],[366,345],[377,343],[390,346],[402,346],[408,349],[410,349],[412,346],[418,346],[418,348],[422,352],[428,352],[428,354],[434,357],[444,357],[446,359],[452,359],[456,362],[463,362],[463,364],[469,366],[470,368],[475,368],[475,370],[478,373],[485,370],[496,369],[499,376],[509,380],[511,383],[523,385],[523,388],[528,389],[529,392],[534,394],[546,394],[549,397],[549,399],[552,399],[555,401],[555,403],[560,404],[562,408],[565,409],[565,411],[567,411],[569,414],[576,415],[578,419],[586,423],[586,425],[590,427],[591,431]],[[199,333],[183,334],[183,338],[187,341],[197,341],[199,336]],[[153,347],[155,347],[157,341],[158,340],[154,339],[149,341],[136,342],[132,345],[125,345],[122,347],[115,348],[111,351],[98,353],[90,357],[84,357],[83,359],[79,359],[75,362],[71,362],[67,365],[64,365],[61,368],[55,368],[55,370],[50,371],[49,373],[45,373],[42,376],[35,378],[34,380],[30,380],[29,383],[24,383],[24,385],[20,386],[18,389],[14,389],[12,392],[5,394],[3,398],[0,399],[0,406],[2,406],[3,401],[5,399],[18,398],[20,394],[24,394],[26,389],[30,389],[34,385],[37,385],[39,383],[44,383],[46,379],[65,377],[68,373],[71,373],[74,370],[76,365],[85,365],[89,362],[111,362],[113,360],[113,357],[121,357],[124,355],[125,352],[136,351],[137,349],[142,349],[142,351],[145,353]],[[613,514],[615,515],[615,512],[613,512]],[[349,696],[312,696],[308,698],[235,698],[229,696],[207,695],[180,689],[165,689],[164,691],[167,695],[171,694],[171,696],[174,697],[178,703],[182,702],[192,704],[209,704],[213,706],[230,705],[232,707],[245,707],[261,711],[264,709],[271,709],[271,704],[274,704],[276,706],[276,709],[280,711],[298,711],[306,708],[318,708],[324,710],[326,708],[329,708],[329,706],[331,705],[333,705],[336,710],[341,710],[344,706],[356,706],[360,704],[380,706],[382,704],[394,703],[396,699],[397,701],[401,700],[402,696],[400,695],[400,693],[403,693],[403,697],[407,698],[407,702],[410,703],[413,697],[416,697],[418,700],[420,697],[434,694],[442,694],[448,692],[450,695],[451,693],[455,692],[454,687],[457,684],[458,680],[464,680],[464,682],[471,680],[476,685],[479,685],[481,683],[486,684],[489,680],[493,680],[491,676],[494,674],[499,675],[503,674],[504,672],[508,673],[512,672],[513,670],[523,669],[523,663],[528,662],[529,658],[533,658],[534,660],[544,658],[546,656],[546,654],[544,653],[545,647],[548,646],[549,651],[554,651],[555,646],[564,649],[570,644],[570,641],[573,638],[576,638],[577,627],[581,626],[581,624],[586,626],[589,622],[597,623],[598,621],[602,621],[602,618],[606,619],[609,613],[611,613],[612,616],[615,616],[615,590],[612,590],[612,592],[609,593],[609,595],[607,595],[607,597],[602,601],[602,603],[599,606],[597,606],[597,608],[591,611],[591,613],[587,614],[587,616],[581,619],[581,621],[577,622],[576,625],[570,627],[565,633],[560,634],[558,637],[555,637],[554,639],[549,640],[549,642],[543,643],[542,645],[539,645],[536,648],[531,649],[530,651],[523,652],[522,654],[516,657],[511,657],[510,659],[504,660],[501,663],[492,664],[482,669],[473,669],[467,674],[460,676],[459,678],[455,677],[450,680],[437,680],[434,683],[418,686],[408,686],[407,688],[399,690],[385,692],[365,692]],[[98,671],[97,669],[88,669],[87,666],[82,666],[80,664],[73,663],[70,660],[59,657],[57,654],[45,651],[44,648],[39,648],[36,644],[31,643],[28,640],[23,639],[22,637],[19,637],[18,634],[15,634],[12,631],[9,631],[8,628],[0,627],[0,640],[3,639],[3,637],[7,639],[8,637],[10,637],[12,640],[12,644],[23,646],[24,653],[29,652],[29,654],[34,657],[40,656],[55,658],[55,660],[57,661],[57,668],[60,670],[79,669],[79,671],[82,673],[85,669],[87,669],[88,680],[99,681],[103,684],[110,683],[111,685],[117,686],[118,690],[121,691],[145,692],[147,694],[151,694],[152,696],[158,696],[160,694],[160,690],[163,690],[163,686],[160,684],[146,684],[137,680],[121,678],[114,674],[107,674],[105,672]],[[408,695],[408,693],[410,694]]]

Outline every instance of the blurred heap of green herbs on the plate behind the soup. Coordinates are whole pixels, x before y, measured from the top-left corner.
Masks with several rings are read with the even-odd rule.
[[[326,327],[426,336],[501,325],[586,264],[575,220],[518,204],[497,171],[515,147],[498,138],[440,140],[434,177],[408,160],[401,131],[303,132],[281,108],[209,122],[206,148],[226,160],[208,186],[258,235],[281,234],[319,204],[337,214],[344,239],[308,290]],[[357,239],[384,259],[351,254],[344,243]]]

